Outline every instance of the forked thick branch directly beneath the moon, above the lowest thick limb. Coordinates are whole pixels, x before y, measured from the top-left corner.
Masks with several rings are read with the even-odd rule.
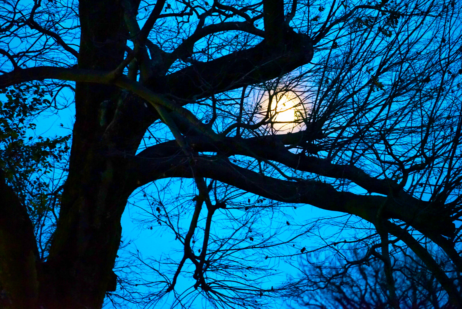
[[[317,175],[336,179],[349,179],[368,192],[389,195],[390,192],[395,191],[397,184],[389,179],[377,179],[353,165],[334,164],[329,160],[321,159],[316,156],[293,154],[284,147],[284,145],[310,141],[312,138],[313,135],[311,132],[300,131],[291,134],[258,136],[248,139],[225,137],[219,141],[204,140],[203,137],[199,136],[189,136],[186,138],[186,141],[195,152],[217,152],[223,153],[226,156],[240,154],[253,158],[263,158],[265,160],[282,163],[287,167],[299,171],[315,173]],[[162,149],[161,151],[167,151],[167,153],[164,153],[166,155],[175,154],[178,151],[175,142],[172,141],[152,146],[141,154],[150,156],[150,154],[156,154],[159,149]],[[395,198],[399,203],[406,205],[405,208],[401,207],[401,217],[407,213],[407,218],[412,220],[412,217],[419,216],[419,213],[423,211],[423,209],[428,211],[428,203],[413,198],[403,190],[395,192]],[[446,217],[443,214],[434,214],[434,216]],[[435,222],[435,220],[432,220],[432,222]],[[450,223],[450,226],[452,229],[453,224]],[[440,228],[441,227],[438,227],[436,229]],[[448,226],[448,229],[449,228]]]

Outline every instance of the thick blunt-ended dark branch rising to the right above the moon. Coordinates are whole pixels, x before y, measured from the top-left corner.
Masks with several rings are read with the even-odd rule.
[[[154,92],[170,93],[179,98],[204,98],[276,78],[310,62],[313,57],[310,37],[304,34],[287,31],[284,50],[268,47],[265,40],[249,49],[197,63],[163,77],[153,77],[146,85]]]

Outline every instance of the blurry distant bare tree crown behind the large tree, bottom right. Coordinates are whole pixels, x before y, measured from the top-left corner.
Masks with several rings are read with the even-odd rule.
[[[352,249],[343,247],[340,259],[333,263],[318,260],[305,264],[304,277],[292,283],[291,296],[307,308],[394,308],[388,297],[389,287],[380,254],[374,246],[369,252],[359,253],[356,248]],[[447,294],[432,272],[408,251],[406,246],[395,244],[390,253],[400,308],[451,308]],[[439,258],[438,250],[432,253],[446,272],[457,272],[447,259]],[[460,280],[456,284],[460,285]]]

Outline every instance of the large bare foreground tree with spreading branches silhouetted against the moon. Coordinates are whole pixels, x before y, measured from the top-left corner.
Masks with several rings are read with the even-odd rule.
[[[3,2],[0,88],[8,106],[22,106],[37,83],[37,93],[67,87],[75,101],[65,182],[51,179],[55,190],[42,195],[45,213],[59,209],[59,215],[37,220],[44,212],[37,214],[37,203],[28,208],[24,188],[12,180],[37,170],[26,170],[27,164],[12,169],[3,163],[11,152],[2,152],[6,308],[100,308],[106,292],[115,290],[113,266],[129,196],[167,178],[193,179],[197,194],[190,227],[174,229],[183,257],[173,277],[159,274],[156,297],[175,293],[185,263],[194,269],[194,288],[216,301],[247,306],[250,296],[271,293],[241,275],[209,274],[242,270],[219,264],[234,247],[259,253],[287,241],[245,245],[233,234],[229,247],[217,249],[211,227],[218,213],[273,210],[279,204],[272,201],[279,201],[369,224],[365,237],[379,237],[369,245],[380,248],[395,308],[389,246],[398,241],[425,264],[451,306],[462,307],[456,284],[462,270],[456,1]],[[53,102],[45,105],[53,110]],[[285,107],[288,102],[292,106]],[[287,111],[289,118],[283,117]],[[14,127],[12,119],[4,127]],[[2,138],[8,147],[26,135]],[[37,151],[66,150],[66,141],[49,140]],[[42,156],[37,164],[45,164]],[[251,204],[246,192],[258,203]],[[151,215],[168,223],[173,206],[161,202]],[[207,214],[201,252],[195,253],[201,210]],[[249,228],[249,220],[233,228]],[[52,235],[37,232],[37,222],[49,224]],[[436,262],[427,242],[444,252],[456,275]]]

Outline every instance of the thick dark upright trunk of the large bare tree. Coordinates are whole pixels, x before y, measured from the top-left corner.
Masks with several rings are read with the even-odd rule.
[[[79,16],[79,68],[115,69],[126,45],[119,1],[81,0]],[[107,130],[120,95],[115,86],[76,85],[69,175],[41,272],[39,303],[45,308],[101,308],[105,292],[113,288],[120,218],[131,192],[124,186],[123,164],[108,159],[109,152],[126,151],[131,144]]]

